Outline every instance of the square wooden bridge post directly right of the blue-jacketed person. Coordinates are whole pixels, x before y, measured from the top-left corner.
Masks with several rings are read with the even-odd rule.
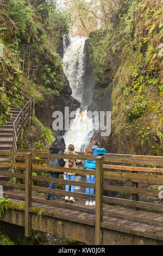
[[[96,158],[96,216],[95,245],[102,245],[101,222],[103,220],[103,156]]]

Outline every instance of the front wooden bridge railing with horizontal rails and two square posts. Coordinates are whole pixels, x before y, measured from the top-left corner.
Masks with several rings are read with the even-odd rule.
[[[0,151],[0,156],[7,155],[6,152]],[[21,188],[25,190],[25,196],[15,196],[9,194],[9,198],[24,200],[26,204],[26,222],[25,233],[26,236],[32,234],[31,227],[31,212],[32,202],[56,206],[58,208],[70,209],[74,211],[81,211],[88,214],[95,215],[95,244],[102,244],[102,228],[104,228],[103,216],[120,218],[132,222],[139,222],[143,224],[154,225],[156,227],[163,227],[163,222],[159,220],[152,220],[143,217],[135,217],[132,215],[125,215],[116,212],[110,212],[104,209],[103,203],[112,205],[122,205],[127,208],[143,209],[148,211],[163,212],[163,205],[156,203],[148,203],[143,201],[136,201],[135,198],[122,199],[104,196],[103,191],[117,191],[130,194],[143,194],[147,196],[158,197],[161,190],[153,190],[151,188],[127,187],[126,184],[121,185],[108,185],[104,184],[106,180],[122,181],[122,182],[136,182],[137,184],[154,184],[163,185],[163,157],[162,156],[139,156],[139,155],[119,155],[119,154],[104,154],[103,156],[85,156],[85,155],[58,155],[49,154],[47,151],[41,150],[18,150],[16,153],[11,153],[16,157],[16,163],[13,162],[0,162],[2,166],[17,167],[24,170],[23,174],[20,173],[7,173],[0,172],[0,175],[15,177],[17,179],[25,180],[24,184],[16,184],[11,182],[1,181],[0,185],[10,186],[14,188]],[[96,161],[96,171],[78,168],[65,168],[65,167],[52,167],[47,166],[49,158],[59,159],[80,159],[80,160],[93,160]],[[137,166],[135,166],[135,164]],[[83,166],[83,164],[78,164]],[[55,172],[69,172],[77,173],[77,175],[96,175],[96,184],[86,183],[83,181],[70,181],[64,179],[54,179],[47,176],[33,175],[47,173],[49,171]],[[59,189],[49,189],[40,186],[32,186],[34,181],[55,182],[56,184],[68,184],[80,187],[96,188],[96,195],[88,196],[85,193],[79,192],[66,192]],[[79,199],[96,200],[96,210],[85,208],[77,205],[65,204],[64,202],[57,202],[57,200],[44,200],[32,198],[32,191],[40,193],[54,193],[57,196],[71,196]]]

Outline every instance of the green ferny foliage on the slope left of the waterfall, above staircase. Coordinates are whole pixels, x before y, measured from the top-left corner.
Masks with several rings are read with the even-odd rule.
[[[43,99],[45,88],[59,95],[66,80],[57,51],[62,34],[72,26],[70,14],[56,9],[53,0],[0,0],[0,4],[1,76],[32,93],[36,102]]]

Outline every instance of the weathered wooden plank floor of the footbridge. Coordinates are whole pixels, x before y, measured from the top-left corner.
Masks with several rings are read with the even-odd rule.
[[[24,192],[18,192],[16,190],[9,190],[9,191],[4,191],[5,194],[8,194],[8,197],[10,198],[10,195],[13,196],[19,196],[19,197],[24,197],[25,193]],[[37,193],[32,193],[32,199],[42,199],[45,200],[45,196],[40,196],[40,194]],[[17,199],[12,199],[13,202],[24,202],[23,200],[17,200]],[[93,209],[95,210],[95,206],[86,206],[84,201],[76,200],[75,203],[71,202],[65,202],[63,199],[58,199],[58,200],[48,200],[48,202],[58,202],[63,205],[76,205],[79,206],[80,208],[84,209]],[[87,214],[85,212],[79,212],[79,211],[74,211],[74,210],[69,210],[69,209],[64,209],[64,208],[57,208],[54,206],[48,206],[46,205],[46,200],[45,204],[39,204],[39,203],[32,203],[32,209],[37,208],[37,209],[42,209],[45,208],[46,212],[44,215],[46,216],[53,216],[60,218],[62,220],[67,220],[67,221],[72,221],[72,222],[78,222],[78,223],[83,223],[87,225],[95,225],[95,215],[94,214]],[[146,218],[147,220],[157,220],[157,221],[163,221],[163,215],[162,214],[157,214],[155,212],[149,212],[149,211],[144,211],[144,210],[133,210],[133,209],[127,209],[123,208],[120,206],[114,206],[114,205],[106,205],[103,204],[103,210],[107,210],[108,212],[114,212],[117,214],[124,214],[124,215],[130,215],[133,217],[143,217]],[[101,227],[104,229],[110,229],[110,230],[116,230],[119,232],[127,233],[127,234],[133,234],[133,235],[138,235],[138,236],[143,236],[151,239],[159,239],[163,241],[163,228],[161,227],[156,227],[154,225],[149,225],[149,224],[141,224],[138,222],[132,222],[132,221],[127,221],[127,220],[122,220],[121,218],[114,218],[114,217],[107,217],[103,216],[103,221],[101,223]]]

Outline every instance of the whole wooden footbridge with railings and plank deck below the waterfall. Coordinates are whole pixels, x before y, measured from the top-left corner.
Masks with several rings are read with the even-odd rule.
[[[163,185],[162,156],[55,155],[40,150],[0,151],[0,156],[10,157],[10,161],[0,162],[0,175],[15,179],[14,182],[13,179],[0,181],[0,185],[15,205],[21,203],[22,206],[6,210],[0,220],[24,227],[26,236],[32,235],[33,229],[90,245],[163,244],[162,199],[158,203],[145,201],[146,196],[158,199],[162,195],[161,190],[151,188],[152,185]],[[50,157],[95,160],[96,171],[83,169],[83,163],[76,169],[47,166]],[[1,166],[7,169],[1,170]],[[96,184],[89,184],[96,189],[96,195],[59,189],[60,184],[84,188],[88,184],[49,178],[49,170],[75,172],[79,176],[96,174]],[[57,188],[43,187],[45,182],[55,182]],[[104,196],[106,191],[130,194],[131,198]],[[60,199],[45,200],[42,193],[54,193]],[[142,195],[144,200],[139,200]],[[65,196],[73,196],[76,202],[65,202]],[[85,199],[96,200],[96,206],[85,206]]]

